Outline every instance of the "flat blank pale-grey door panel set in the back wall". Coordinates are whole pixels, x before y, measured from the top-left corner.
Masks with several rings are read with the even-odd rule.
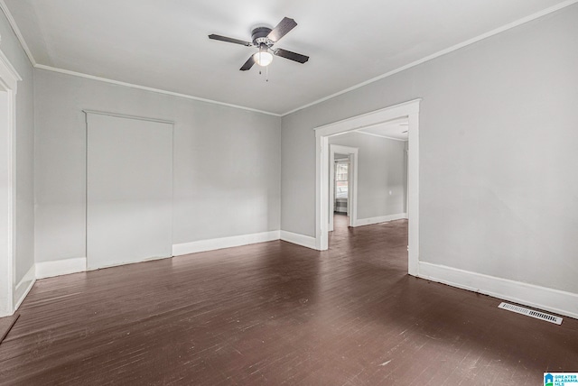
[[[87,113],[87,268],[172,255],[172,124]]]

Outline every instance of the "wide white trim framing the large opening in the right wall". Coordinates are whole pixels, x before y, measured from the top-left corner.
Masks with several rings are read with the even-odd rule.
[[[409,126],[408,190],[407,211],[409,218],[408,267],[410,275],[419,274],[419,105],[414,99],[396,106],[389,106],[367,114],[326,124],[315,128],[315,247],[328,249],[328,218],[330,195],[329,136],[347,133],[373,124],[381,124],[396,118],[407,117]]]

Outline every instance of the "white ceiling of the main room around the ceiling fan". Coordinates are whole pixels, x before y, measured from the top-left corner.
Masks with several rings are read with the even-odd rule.
[[[283,115],[452,46],[560,0],[4,0],[39,67]],[[2,3],[2,0],[0,0]],[[211,41],[250,41],[251,27],[298,23],[277,48],[311,59],[276,57],[269,81],[255,51]]]

